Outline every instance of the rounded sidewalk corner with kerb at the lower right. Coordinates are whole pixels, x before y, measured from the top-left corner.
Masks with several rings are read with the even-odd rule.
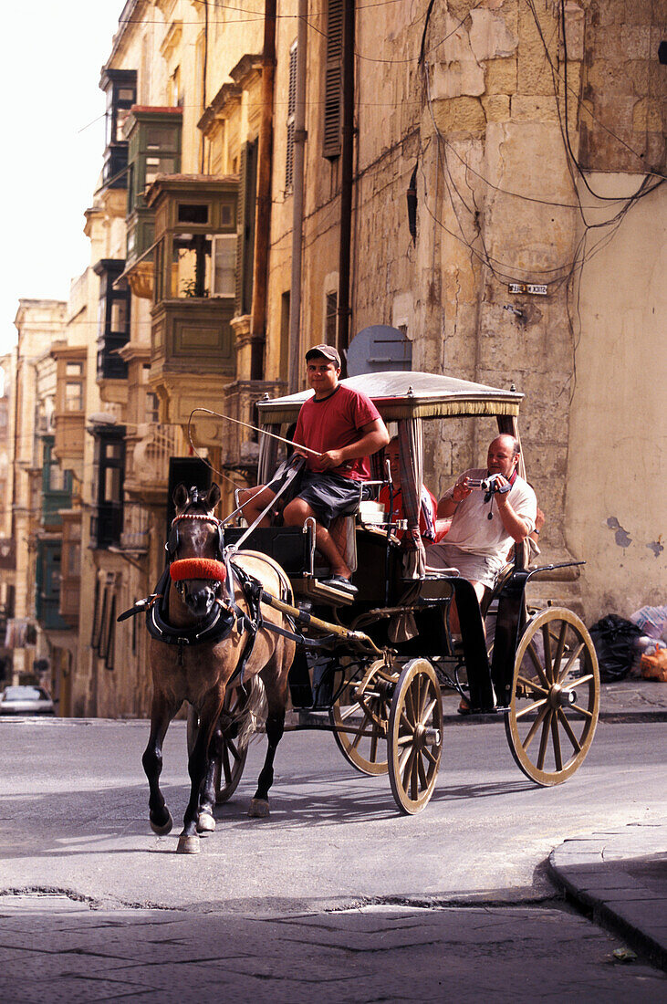
[[[566,840],[549,871],[580,910],[667,970],[667,823]]]

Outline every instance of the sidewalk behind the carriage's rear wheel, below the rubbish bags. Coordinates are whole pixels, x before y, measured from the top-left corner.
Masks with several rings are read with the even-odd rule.
[[[444,720],[459,725],[478,723],[481,717],[493,721],[492,715],[459,715],[458,696],[444,692]],[[498,716],[502,721],[502,716]],[[667,684],[655,680],[627,679],[600,688],[601,722],[667,722]]]

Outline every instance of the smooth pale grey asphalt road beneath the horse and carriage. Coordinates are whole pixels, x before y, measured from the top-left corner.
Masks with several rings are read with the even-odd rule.
[[[286,734],[272,812],[246,811],[264,757],[196,857],[176,851],[188,799],[185,724],[164,744],[174,831],[154,836],[140,757],[146,722],[0,722],[0,890],[56,890],[97,906],[297,913],[368,903],[539,900],[563,840],[664,815],[664,724],[601,722],[568,782],[539,788],[501,724],[445,729],[426,809],[400,816],[388,780],[365,777],[328,733]],[[548,892],[546,892],[548,891]]]

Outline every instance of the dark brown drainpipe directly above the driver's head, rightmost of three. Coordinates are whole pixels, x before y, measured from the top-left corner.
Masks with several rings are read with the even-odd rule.
[[[352,182],[354,178],[354,0],[345,0],[343,18],[343,136],[340,188],[340,251],[338,258],[338,350],[346,375],[345,350],[350,343],[350,251],[352,244]]]

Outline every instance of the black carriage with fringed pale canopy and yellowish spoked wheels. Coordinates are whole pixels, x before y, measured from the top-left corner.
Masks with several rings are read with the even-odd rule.
[[[519,439],[523,395],[416,371],[351,378],[343,383],[371,398],[384,422],[395,423],[401,447],[403,498],[418,520],[423,472],[423,423],[449,419],[495,421],[498,433]],[[264,400],[263,432],[285,437],[312,392]],[[259,482],[271,480],[284,450],[260,439]],[[381,457],[380,457],[381,459]],[[526,476],[523,455],[520,474]],[[375,463],[376,483],[383,479]],[[410,503],[411,498],[411,503]],[[416,513],[416,517],[415,517]],[[526,567],[528,548],[515,548],[514,563],[498,582],[492,646],[470,584],[457,574],[428,572],[423,553],[400,546],[396,525],[378,521],[363,506],[348,517],[356,564],[351,596],[323,580],[314,525],[272,526],[245,536],[228,527],[226,540],[270,554],[290,577],[295,602],[318,626],[300,626],[315,652],[302,651],[291,675],[292,703],[301,727],[329,727],[346,756],[368,774],[389,773],[399,808],[421,809],[432,793],[442,744],[440,690],[466,696],[474,712],[503,716],[520,768],[542,785],[566,780],[581,765],[593,740],[599,709],[595,650],[576,614],[560,607],[530,610],[526,586],[555,566]],[[448,630],[455,596],[461,641]],[[483,606],[484,604],[482,604]],[[322,645],[322,624],[332,634]],[[406,624],[408,630],[405,630]],[[362,632],[372,649],[350,643],[344,630]]]

